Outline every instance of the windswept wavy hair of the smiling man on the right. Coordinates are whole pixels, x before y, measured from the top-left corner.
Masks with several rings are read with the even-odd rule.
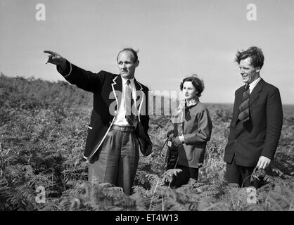
[[[236,53],[235,62],[240,64],[240,61],[245,58],[251,58],[251,65],[253,65],[255,68],[260,67],[262,68],[263,62],[264,62],[264,56],[262,53],[262,49],[257,48],[255,46],[250,47],[246,51],[238,51]]]

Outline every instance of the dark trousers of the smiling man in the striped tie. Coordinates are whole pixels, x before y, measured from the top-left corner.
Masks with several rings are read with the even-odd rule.
[[[258,188],[260,182],[253,176],[253,170],[255,167],[242,167],[236,165],[235,155],[231,163],[226,162],[226,174],[224,178],[230,186],[238,186],[241,188],[254,186]]]

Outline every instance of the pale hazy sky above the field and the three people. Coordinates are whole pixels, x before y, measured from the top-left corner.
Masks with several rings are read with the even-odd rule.
[[[46,20],[37,20],[44,4]],[[247,19],[248,4],[257,20]],[[250,14],[253,15],[253,14]],[[261,76],[294,104],[294,1],[0,0],[0,71],[11,77],[63,80],[44,50],[86,70],[117,73],[124,47],[139,49],[136,79],[152,90],[178,90],[184,77],[205,82],[200,100],[233,103],[243,85],[237,50],[259,46]]]

